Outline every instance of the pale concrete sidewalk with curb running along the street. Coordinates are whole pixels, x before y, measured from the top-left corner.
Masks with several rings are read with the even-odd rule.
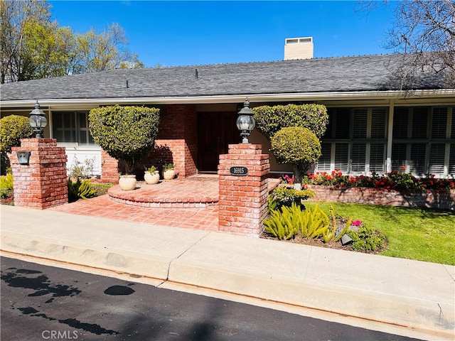
[[[455,266],[2,205],[1,250],[455,340]]]

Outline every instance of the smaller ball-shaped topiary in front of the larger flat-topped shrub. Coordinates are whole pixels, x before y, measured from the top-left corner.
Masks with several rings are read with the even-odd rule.
[[[301,175],[321,157],[321,143],[307,128],[290,126],[283,128],[270,139],[270,149],[278,163],[289,163],[294,168],[296,183]]]

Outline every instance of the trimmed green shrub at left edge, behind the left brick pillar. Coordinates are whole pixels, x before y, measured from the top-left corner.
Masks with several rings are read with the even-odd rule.
[[[10,167],[8,153],[11,153],[11,147],[21,146],[21,139],[31,139],[33,136],[33,129],[28,123],[28,117],[9,115],[0,119],[2,175],[5,175],[6,170]]]

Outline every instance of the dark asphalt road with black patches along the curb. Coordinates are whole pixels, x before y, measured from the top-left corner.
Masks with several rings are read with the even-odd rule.
[[[1,258],[1,340],[416,340]]]

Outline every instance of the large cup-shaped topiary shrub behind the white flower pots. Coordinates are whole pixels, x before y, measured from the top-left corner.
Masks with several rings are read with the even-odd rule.
[[[158,128],[157,108],[116,105],[95,108],[89,114],[93,141],[112,158],[124,161],[127,173],[154,148]]]

